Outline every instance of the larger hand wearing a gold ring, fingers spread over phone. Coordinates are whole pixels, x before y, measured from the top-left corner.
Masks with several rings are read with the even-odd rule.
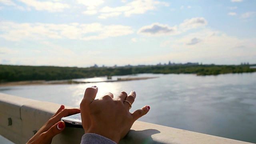
[[[116,143],[128,133],[132,124],[150,109],[149,106],[144,106],[134,113],[129,112],[130,104],[136,97],[136,92],[133,91],[129,95],[121,92],[116,98],[107,93],[95,100],[97,92],[96,86],[86,88],[80,104],[84,132],[99,134]]]

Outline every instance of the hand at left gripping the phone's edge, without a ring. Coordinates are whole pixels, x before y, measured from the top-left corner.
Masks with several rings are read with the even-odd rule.
[[[80,113],[79,108],[65,109],[65,106],[61,105],[59,110],[32,138],[30,138],[27,144],[50,144],[52,138],[62,132],[65,128],[65,123],[60,121],[60,118],[77,113]]]

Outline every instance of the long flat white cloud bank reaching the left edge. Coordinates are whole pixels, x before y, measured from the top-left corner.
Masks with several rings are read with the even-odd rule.
[[[91,24],[42,24],[42,23],[14,23],[2,22],[2,34],[0,38],[10,41],[45,40],[54,39],[78,39],[92,40],[132,34],[130,26]]]

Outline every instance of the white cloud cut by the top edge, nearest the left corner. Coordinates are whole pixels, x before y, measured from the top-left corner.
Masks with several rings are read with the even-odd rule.
[[[49,12],[62,12],[65,8],[70,8],[68,4],[50,1],[37,1],[37,0],[19,0],[27,6],[34,7],[36,10],[47,10]]]

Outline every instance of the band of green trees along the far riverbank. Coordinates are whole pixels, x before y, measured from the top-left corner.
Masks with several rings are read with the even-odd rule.
[[[121,76],[128,74],[197,74],[198,76],[228,73],[256,72],[250,65],[174,65],[119,68],[77,68],[56,66],[0,65],[0,82],[24,80],[67,80],[94,76]]]

